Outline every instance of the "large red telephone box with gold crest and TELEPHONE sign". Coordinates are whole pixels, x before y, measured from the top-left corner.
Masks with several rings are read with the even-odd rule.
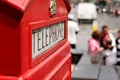
[[[0,0],[0,80],[71,80],[68,0]]]

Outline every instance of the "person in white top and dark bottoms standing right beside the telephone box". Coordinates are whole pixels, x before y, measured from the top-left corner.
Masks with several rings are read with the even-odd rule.
[[[68,41],[70,42],[72,49],[76,49],[78,32],[79,32],[79,27],[77,25],[77,22],[74,21],[74,16],[72,14],[69,14],[68,15]]]

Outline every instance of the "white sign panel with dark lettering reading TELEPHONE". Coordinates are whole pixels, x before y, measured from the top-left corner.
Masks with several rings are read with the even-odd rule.
[[[32,31],[32,59],[64,39],[64,22]]]

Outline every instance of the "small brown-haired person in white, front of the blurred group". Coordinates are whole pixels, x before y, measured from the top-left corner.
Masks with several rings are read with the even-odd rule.
[[[117,63],[116,53],[116,47],[112,46],[112,40],[106,40],[106,50],[104,51],[104,55],[106,56],[105,65],[113,66]]]

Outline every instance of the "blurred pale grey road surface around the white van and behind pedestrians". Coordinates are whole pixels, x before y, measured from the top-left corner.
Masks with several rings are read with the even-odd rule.
[[[76,9],[74,8],[71,13],[77,15]],[[75,21],[77,21],[77,16],[74,17]],[[120,29],[120,17],[116,18],[106,13],[100,13],[98,14],[98,19],[96,21],[98,23],[97,27],[99,28],[99,30],[101,30],[101,27],[103,25],[108,25],[110,31],[116,37],[117,30]],[[90,38],[92,25],[93,24],[79,24],[80,32],[77,35],[78,44],[77,49],[74,50],[75,53],[85,53],[87,51],[87,40]]]

